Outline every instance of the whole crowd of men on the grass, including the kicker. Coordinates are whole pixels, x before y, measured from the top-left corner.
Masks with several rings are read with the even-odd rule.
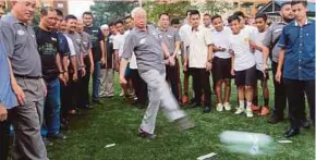
[[[77,19],[50,7],[40,10],[39,25],[33,26],[36,1],[11,3],[11,12],[4,15],[5,4],[0,2],[1,160],[8,157],[10,125],[14,130],[12,159],[47,159],[46,146],[66,138],[60,131],[69,130],[69,115],[114,96],[116,71],[120,95],[141,108],[148,104],[138,130],[145,138],[155,138],[160,107],[180,130],[194,127],[182,104],[203,108],[203,113],[231,111],[233,86],[235,114],[268,115],[268,59],[275,85],[268,122],[284,119],[288,101],[290,130],[284,137],[300,134],[300,127],[311,125],[307,98],[315,126],[315,21],[306,16],[306,1],[282,3],[281,21],[270,26],[264,13],[256,14],[255,24],[250,25],[243,12],[226,22],[197,10],[187,11],[183,24],[161,13],[157,25],[149,25],[146,11],[136,8],[122,20],[96,27],[90,12]],[[217,97],[215,107],[211,90]],[[263,91],[262,107],[258,91]]]

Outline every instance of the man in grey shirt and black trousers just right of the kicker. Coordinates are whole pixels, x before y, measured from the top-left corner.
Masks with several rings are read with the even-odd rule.
[[[179,82],[178,82],[178,59],[177,54],[180,50],[180,35],[179,33],[170,27],[170,17],[167,13],[161,13],[159,15],[159,29],[162,34],[162,37],[166,39],[166,45],[168,47],[169,52],[171,53],[171,59],[174,59],[174,63],[166,64],[167,72],[167,81],[170,83],[172,94],[175,99],[181,102],[181,97],[179,95]]]

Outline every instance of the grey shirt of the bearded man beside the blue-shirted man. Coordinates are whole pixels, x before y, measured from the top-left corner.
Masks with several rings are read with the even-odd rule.
[[[271,24],[270,27],[267,29],[265,39],[263,40],[263,45],[267,47],[271,47],[274,42],[278,40],[278,38],[282,34],[283,27],[285,25],[287,24],[282,22]],[[275,42],[276,45],[272,48],[272,61],[277,63],[279,62],[279,52],[281,49],[280,47],[278,47],[278,41]]]

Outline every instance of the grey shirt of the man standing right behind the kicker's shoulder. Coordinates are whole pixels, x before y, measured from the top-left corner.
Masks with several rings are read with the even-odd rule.
[[[169,27],[166,32],[161,30],[163,42],[167,45],[170,54],[172,56],[175,50],[175,44],[181,41],[179,32]]]

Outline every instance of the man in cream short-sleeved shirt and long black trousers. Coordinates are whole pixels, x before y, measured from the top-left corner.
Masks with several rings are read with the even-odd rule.
[[[186,56],[184,70],[192,71],[193,88],[195,94],[194,107],[200,106],[202,90],[204,91],[204,113],[210,112],[210,84],[209,71],[211,70],[212,47],[210,29],[200,25],[200,15],[197,10],[190,12],[192,29],[187,32],[186,45],[190,46],[190,54]]]

